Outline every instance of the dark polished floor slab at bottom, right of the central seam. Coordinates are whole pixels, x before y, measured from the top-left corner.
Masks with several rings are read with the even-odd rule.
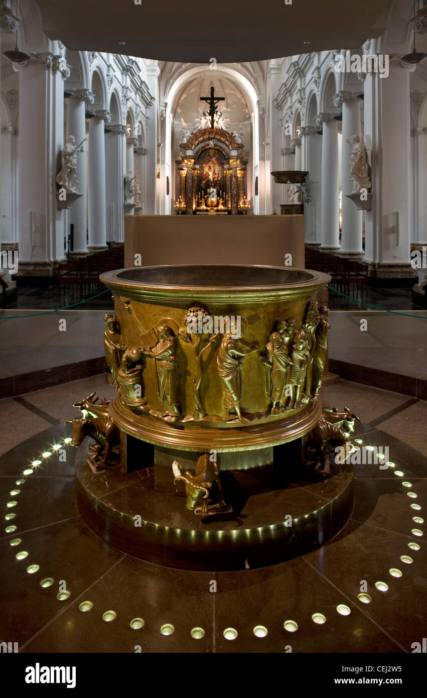
[[[217,652],[400,652],[400,648],[370,622],[346,598],[328,584],[304,560],[291,560],[264,570],[216,573]],[[338,614],[338,604],[350,607],[349,616]],[[326,623],[317,625],[313,614],[323,614]],[[288,632],[285,621],[298,629]],[[267,637],[257,637],[254,628],[263,625]],[[232,627],[234,640],[224,637]],[[337,640],[339,639],[339,649]]]

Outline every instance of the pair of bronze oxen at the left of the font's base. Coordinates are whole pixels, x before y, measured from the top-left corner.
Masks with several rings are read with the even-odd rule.
[[[80,446],[86,436],[91,436],[98,448],[91,456],[98,468],[105,467],[111,456],[114,446],[120,443],[120,430],[114,424],[110,415],[110,400],[95,397],[96,391],[80,402],[75,402],[74,407],[82,411],[80,419],[67,419],[66,424],[73,425],[71,433],[71,445]],[[98,402],[99,400],[99,402]]]

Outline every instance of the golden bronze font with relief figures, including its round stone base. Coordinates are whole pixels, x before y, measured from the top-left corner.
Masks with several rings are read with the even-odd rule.
[[[114,296],[114,395],[91,394],[69,420],[88,525],[122,551],[194,570],[269,565],[335,535],[353,475],[334,456],[357,417],[319,399],[330,326],[317,295],[330,277],[187,265],[100,279]]]

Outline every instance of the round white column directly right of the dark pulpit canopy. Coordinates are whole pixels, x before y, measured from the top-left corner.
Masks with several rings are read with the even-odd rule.
[[[302,126],[306,167],[310,184],[309,200],[304,202],[305,239],[308,246],[320,245],[321,186],[322,180],[322,138],[315,126]]]

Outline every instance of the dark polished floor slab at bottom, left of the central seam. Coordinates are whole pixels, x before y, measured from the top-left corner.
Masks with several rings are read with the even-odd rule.
[[[25,652],[135,652],[206,653],[213,649],[213,596],[209,572],[183,572],[149,565],[126,557],[97,581],[65,613],[24,648]],[[89,600],[87,613],[79,604]],[[105,611],[116,611],[110,623]],[[133,618],[142,618],[144,627],[130,628]],[[174,632],[163,635],[160,628],[170,624]],[[193,639],[191,630],[204,630]],[[147,667],[145,667],[147,669]],[[167,678],[167,676],[165,676]],[[169,677],[171,678],[171,677]]]

